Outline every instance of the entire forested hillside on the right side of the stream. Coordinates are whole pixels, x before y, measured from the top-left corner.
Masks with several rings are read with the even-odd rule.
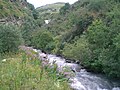
[[[79,0],[73,5],[66,3],[48,25],[41,27],[47,33],[40,30],[33,46],[79,60],[90,71],[119,78],[119,29],[119,0]],[[48,44],[40,42],[43,36]]]

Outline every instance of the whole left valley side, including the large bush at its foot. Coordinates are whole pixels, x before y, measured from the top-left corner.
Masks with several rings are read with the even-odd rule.
[[[26,43],[31,32],[37,28],[35,16],[34,6],[26,0],[0,0],[0,52],[9,51],[12,47],[16,48],[14,44],[19,40]],[[15,40],[17,37],[19,40]],[[11,41],[12,45],[9,46],[10,42],[7,42],[5,38]]]

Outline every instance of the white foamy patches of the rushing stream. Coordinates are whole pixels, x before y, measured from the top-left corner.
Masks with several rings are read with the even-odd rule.
[[[45,55],[46,54],[39,53],[40,57],[45,57]],[[47,56],[47,60],[49,60],[49,63],[51,65],[53,64],[53,62],[55,62],[58,65],[58,68],[61,70],[65,66],[71,68],[78,66],[73,63],[66,63],[65,59],[57,57],[56,55],[46,55],[46,56]],[[76,73],[77,76],[70,78],[70,81],[72,82],[70,85],[75,90],[120,90],[119,87],[114,87],[113,89],[103,88],[106,85],[109,86],[109,83],[104,79],[102,79],[101,77],[88,73],[85,69],[81,69],[78,73],[79,74]]]

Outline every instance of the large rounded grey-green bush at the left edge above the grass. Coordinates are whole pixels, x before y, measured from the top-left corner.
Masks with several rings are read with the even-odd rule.
[[[17,27],[0,25],[0,53],[17,51],[22,38]]]

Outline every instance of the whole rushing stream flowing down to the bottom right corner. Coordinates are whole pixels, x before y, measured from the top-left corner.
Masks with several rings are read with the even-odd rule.
[[[40,58],[44,60],[46,54],[38,52]],[[50,64],[55,62],[59,70],[67,66],[75,72],[75,76],[70,78],[70,85],[74,90],[120,90],[120,82],[116,83],[108,80],[103,75],[87,72],[85,69],[81,69],[81,66],[78,64],[67,63],[64,58],[57,57],[56,55],[47,55],[47,59]]]

